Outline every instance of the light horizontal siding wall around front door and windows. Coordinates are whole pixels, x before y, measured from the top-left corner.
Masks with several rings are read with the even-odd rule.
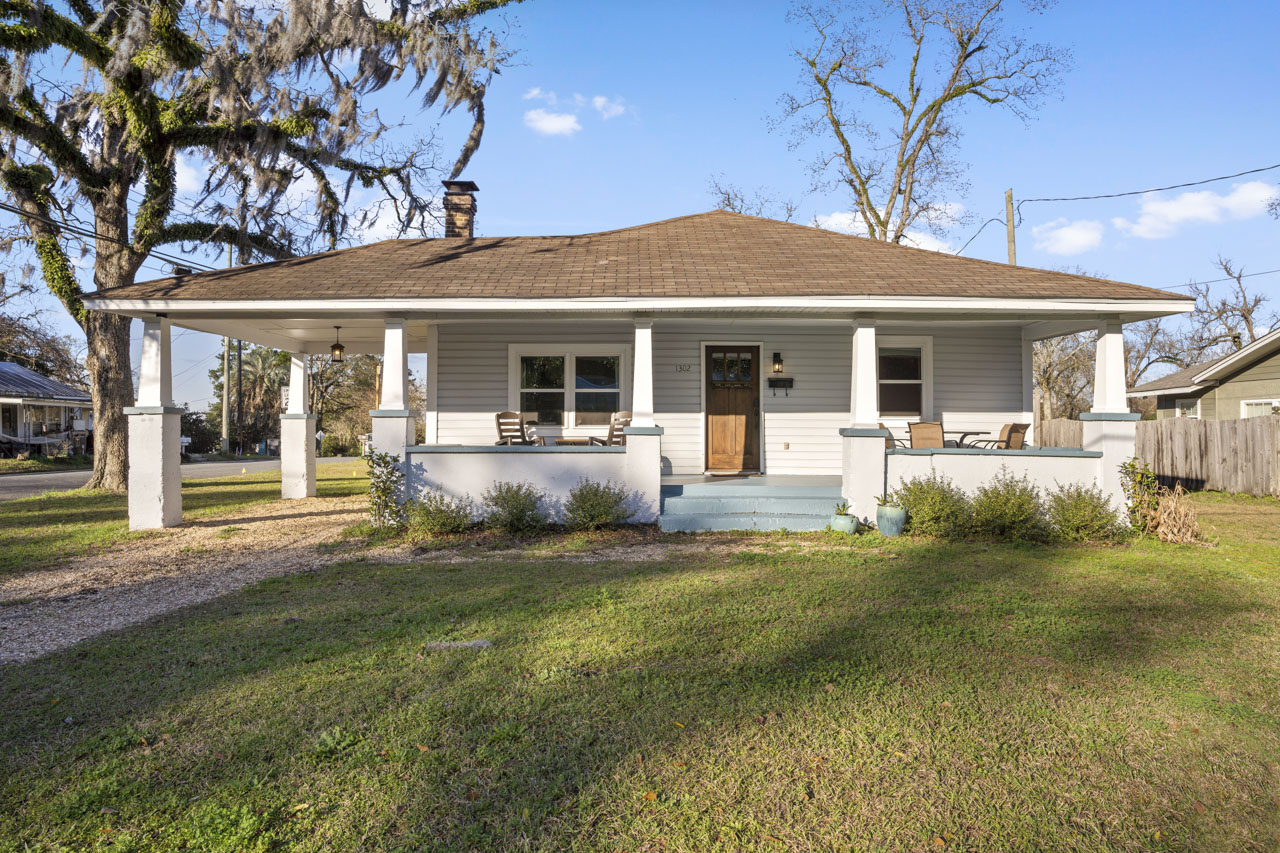
[[[878,334],[931,336],[933,416],[947,429],[983,429],[1029,420],[1021,410],[1021,334],[1016,327],[882,324]],[[438,443],[492,444],[493,416],[511,406],[508,345],[630,347],[626,321],[442,324],[438,333]],[[763,464],[769,474],[838,474],[838,430],[850,415],[851,329],[847,321],[654,319],[654,415],[664,474],[704,470],[701,345],[758,343],[762,364],[781,352],[790,394],[763,391]],[[628,357],[630,361],[630,357]],[[623,387],[630,407],[630,383]],[[902,425],[891,426],[905,434]],[[603,434],[603,428],[595,430]]]

